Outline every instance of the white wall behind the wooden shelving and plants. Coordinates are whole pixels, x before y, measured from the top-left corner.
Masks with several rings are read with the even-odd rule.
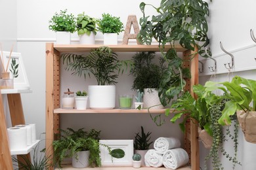
[[[152,3],[158,5],[160,1],[145,1],[146,3]],[[33,90],[32,94],[26,94],[22,96],[24,98],[24,112],[27,122],[35,122],[37,124],[38,133],[45,131],[45,42],[54,41],[54,33],[48,29],[48,21],[53,16],[54,12],[60,9],[68,9],[69,12],[75,15],[79,12],[85,11],[87,14],[93,17],[100,17],[103,12],[110,12],[115,16],[120,16],[121,21],[125,24],[127,16],[129,14],[136,14],[139,19],[142,15],[139,10],[140,1],[32,1],[23,0],[17,1],[17,38],[18,38],[18,52],[22,52],[24,57],[24,63],[26,65],[26,71],[28,73],[28,79]],[[254,61],[253,51],[240,50],[250,46],[249,49],[253,49],[254,42],[249,37],[249,29],[256,30],[256,1],[254,0],[213,0],[209,3],[211,16],[209,17],[209,37],[211,38],[211,50],[213,57],[218,57],[218,70],[216,80],[227,79],[227,71],[223,68],[223,63],[228,62],[228,56],[224,56],[221,48],[219,48],[219,41],[223,42],[224,48],[228,51],[242,51],[241,57],[235,56],[235,69],[237,71],[233,75],[243,75],[249,78],[255,78],[255,71],[243,71],[246,65],[239,65],[238,63],[248,63],[253,68]],[[152,10],[151,10],[152,13]],[[9,32],[9,31],[7,31]],[[255,31],[256,32],[256,31]],[[77,40],[76,33],[72,36],[74,42]],[[122,38],[122,34],[119,35],[119,39]],[[102,39],[102,34],[96,35],[98,42]],[[247,49],[247,48],[246,48]],[[244,54],[244,55],[243,55]],[[121,54],[123,55],[123,54]],[[120,55],[120,56],[121,56]],[[131,54],[127,54],[131,55]],[[131,56],[127,56],[131,57]],[[212,61],[206,60],[205,73],[200,76],[200,82],[203,84],[206,80],[209,80],[208,65],[212,65]],[[250,68],[251,68],[250,67]],[[223,74],[218,74],[223,73]],[[121,78],[125,78],[122,76]],[[81,78],[68,75],[66,78],[71,78],[79,82],[83,87],[90,83],[84,82]],[[129,77],[127,77],[129,78]],[[131,81],[131,80],[130,80]],[[71,81],[70,81],[71,82]],[[121,82],[120,82],[121,83]],[[131,82],[129,82],[131,85]],[[129,91],[130,85],[125,87],[125,90]],[[68,84],[67,86],[73,86]],[[119,84],[117,84],[119,86]],[[75,88],[79,88],[75,86]],[[121,86],[117,87],[118,89]],[[65,87],[66,88],[66,87]],[[75,117],[75,118],[74,118]],[[114,120],[116,124],[110,122]],[[154,138],[161,135],[177,135],[181,137],[179,127],[168,123],[163,127],[156,127],[148,115],[140,114],[84,114],[75,115],[69,114],[62,116],[62,127],[97,127],[102,130],[102,137],[104,138],[133,138],[134,133],[139,131],[139,126],[143,125],[148,131],[153,131]],[[63,124],[65,123],[65,124]],[[107,126],[107,127],[106,127]],[[121,127],[123,126],[123,127]],[[116,128],[118,127],[118,128]],[[117,130],[118,129],[118,130]],[[177,133],[179,131],[179,133]],[[39,134],[38,134],[39,136]],[[255,158],[256,146],[254,144],[246,143],[243,139],[242,133],[240,133],[240,145],[239,145],[239,161],[242,161],[243,166],[236,169],[256,169],[256,162],[251,160]],[[225,144],[227,150],[232,150],[230,144]],[[200,162],[203,167],[204,156],[207,150],[201,147],[200,150]],[[250,161],[251,160],[251,161]],[[224,169],[231,169],[231,165],[226,163],[223,158]]]

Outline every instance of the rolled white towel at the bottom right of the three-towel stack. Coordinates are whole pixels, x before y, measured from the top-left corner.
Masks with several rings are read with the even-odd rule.
[[[167,150],[163,154],[163,165],[168,169],[177,169],[189,161],[188,153],[182,148]]]

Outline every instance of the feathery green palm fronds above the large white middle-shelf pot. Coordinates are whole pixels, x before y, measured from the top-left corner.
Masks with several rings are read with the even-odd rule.
[[[62,54],[66,69],[72,75],[91,76],[93,74],[98,85],[116,84],[118,74],[123,73],[123,68],[131,65],[129,61],[119,61],[117,54],[107,46],[92,49],[88,56],[83,54]]]

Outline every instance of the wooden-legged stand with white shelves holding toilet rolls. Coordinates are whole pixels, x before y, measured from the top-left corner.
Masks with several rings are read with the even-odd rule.
[[[31,93],[32,90],[17,90],[17,89],[5,89],[0,90],[0,169],[13,169],[11,155],[17,155],[19,161],[24,162],[22,155],[26,156],[30,160],[30,151],[39,142],[37,141],[32,146],[28,146],[22,150],[10,150],[9,137],[7,133],[7,125],[5,122],[5,112],[2,94],[7,94],[9,110],[11,115],[12,126],[19,124],[26,124],[24,113],[22,109],[22,100],[20,93]],[[25,163],[25,162],[24,162]]]

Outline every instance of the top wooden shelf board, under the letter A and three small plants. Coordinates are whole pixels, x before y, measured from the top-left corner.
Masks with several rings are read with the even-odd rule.
[[[91,49],[98,48],[100,46],[109,46],[114,52],[146,52],[146,51],[160,51],[158,45],[104,45],[104,44],[54,44],[54,49],[58,52],[90,52]],[[165,47],[165,51],[169,49],[169,46]],[[181,45],[176,45],[177,52],[186,51]]]

